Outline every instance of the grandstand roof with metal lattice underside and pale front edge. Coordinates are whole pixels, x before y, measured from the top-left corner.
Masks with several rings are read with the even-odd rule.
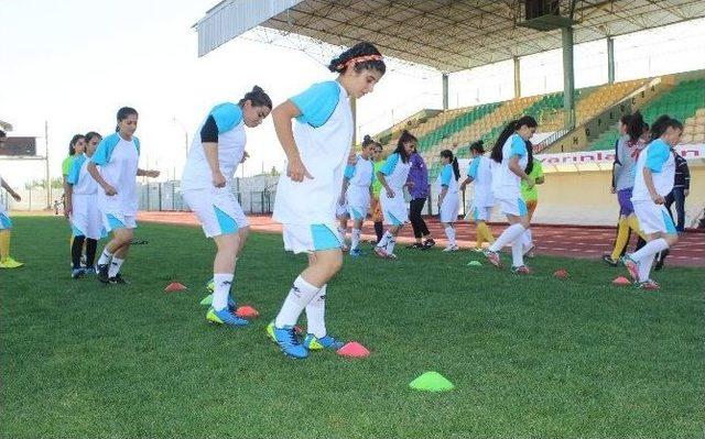
[[[705,17],[703,0],[557,0],[574,41]],[[554,4],[555,4],[554,3]],[[406,62],[457,72],[561,47],[558,30],[522,26],[522,0],[224,0],[195,28],[199,56],[256,26],[337,46],[366,40]]]

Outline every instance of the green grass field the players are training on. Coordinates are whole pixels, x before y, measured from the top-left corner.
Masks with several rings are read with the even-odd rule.
[[[702,268],[643,293],[598,262],[536,257],[516,277],[467,267],[475,253],[368,252],[329,285],[327,322],[372,354],[294,361],[264,333],[305,264],[279,235],[240,259],[238,299],[262,317],[232,330],[198,305],[200,229],[141,224],[131,285],[104,286],[69,278],[63,219],[14,222],[26,266],[0,272],[0,437],[703,437]],[[163,293],[171,281],[189,289]],[[456,389],[410,389],[425,371]]]

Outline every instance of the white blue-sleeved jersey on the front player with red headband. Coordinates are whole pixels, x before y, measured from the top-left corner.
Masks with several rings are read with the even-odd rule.
[[[352,144],[349,97],[339,83],[330,80],[290,100],[301,112],[293,130],[299,155],[313,178],[293,182],[282,174],[272,218],[284,224],[334,222]]]

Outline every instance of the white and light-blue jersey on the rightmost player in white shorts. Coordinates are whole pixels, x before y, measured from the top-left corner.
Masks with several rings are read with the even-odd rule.
[[[657,139],[649,143],[639,154],[639,160],[634,167],[636,178],[634,188],[631,194],[632,201],[651,200],[651,195],[649,194],[643,176],[643,169],[647,167],[651,169],[653,187],[660,196],[665,197],[673,190],[675,157],[671,152],[671,147],[661,139]]]

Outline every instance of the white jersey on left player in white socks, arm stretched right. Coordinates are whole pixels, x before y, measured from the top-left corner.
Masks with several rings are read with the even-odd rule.
[[[137,169],[140,158],[140,141],[124,140],[112,133],[98,144],[90,162],[100,166],[100,176],[112,186],[117,194],[107,196],[98,191],[98,204],[104,213],[134,216],[138,209]]]

